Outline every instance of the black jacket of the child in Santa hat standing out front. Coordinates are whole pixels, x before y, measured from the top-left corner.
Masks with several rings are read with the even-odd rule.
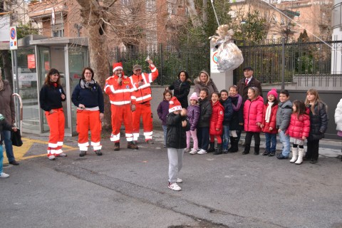
[[[187,121],[187,126],[182,127],[182,121]],[[167,133],[166,133],[166,147],[175,149],[182,149],[187,147],[187,130],[190,130],[190,123],[187,116],[180,114],[170,113],[167,115],[166,120]]]

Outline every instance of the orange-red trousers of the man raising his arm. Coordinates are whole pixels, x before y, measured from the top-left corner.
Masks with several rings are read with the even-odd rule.
[[[139,138],[139,130],[140,130],[140,117],[142,117],[142,124],[144,126],[144,135],[145,140],[152,139],[152,112],[151,112],[151,104],[150,100],[141,103],[135,104],[135,111],[132,112],[133,115],[133,140],[138,140]]]

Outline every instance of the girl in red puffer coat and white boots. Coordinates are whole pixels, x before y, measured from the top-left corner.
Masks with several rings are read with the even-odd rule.
[[[294,100],[292,110],[290,125],[286,131],[286,134],[290,136],[290,142],[294,143],[290,162],[300,165],[304,157],[304,141],[310,133],[309,110],[301,100]]]

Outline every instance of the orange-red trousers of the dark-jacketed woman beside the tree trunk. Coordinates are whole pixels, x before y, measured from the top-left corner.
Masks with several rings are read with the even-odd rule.
[[[81,151],[87,151],[89,146],[88,131],[90,129],[90,140],[93,150],[101,150],[100,145],[102,125],[100,121],[100,110],[77,110],[78,147]]]

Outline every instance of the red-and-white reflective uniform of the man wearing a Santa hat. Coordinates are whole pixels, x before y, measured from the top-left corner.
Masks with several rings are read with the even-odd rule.
[[[105,93],[109,95],[110,110],[112,112],[112,135],[110,140],[120,141],[121,124],[125,125],[125,136],[128,142],[133,140],[132,111],[130,110],[133,86],[127,76],[118,83],[119,76],[110,76],[105,81]]]

